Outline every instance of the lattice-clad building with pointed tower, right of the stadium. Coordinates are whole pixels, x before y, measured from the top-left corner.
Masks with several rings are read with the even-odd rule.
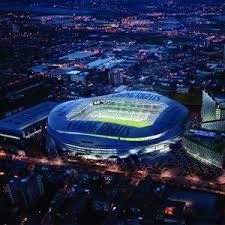
[[[190,129],[182,139],[188,155],[207,166],[224,167],[225,98],[202,91],[202,123]]]

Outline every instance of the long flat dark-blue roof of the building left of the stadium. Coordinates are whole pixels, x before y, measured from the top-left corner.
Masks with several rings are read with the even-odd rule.
[[[51,101],[43,102],[12,116],[6,117],[0,120],[0,132],[13,132],[21,135],[25,128],[46,119],[50,111],[58,104],[58,102]]]

